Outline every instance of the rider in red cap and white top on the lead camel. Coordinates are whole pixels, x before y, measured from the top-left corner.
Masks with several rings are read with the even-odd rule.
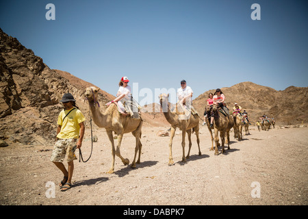
[[[110,101],[106,105],[109,106],[110,104],[117,102],[118,106],[120,107],[123,112],[125,112],[125,109],[123,107],[123,103],[125,101],[130,101],[131,100],[131,86],[129,86],[127,83],[129,83],[128,77],[122,77],[120,79],[120,82],[118,83],[118,92],[116,93],[116,99],[113,101]]]

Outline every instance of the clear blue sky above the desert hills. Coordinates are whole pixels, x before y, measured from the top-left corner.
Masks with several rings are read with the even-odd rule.
[[[0,3],[0,27],[49,68],[114,95],[123,76],[153,94],[185,79],[193,99],[244,81],[308,86],[308,1],[10,0]]]

